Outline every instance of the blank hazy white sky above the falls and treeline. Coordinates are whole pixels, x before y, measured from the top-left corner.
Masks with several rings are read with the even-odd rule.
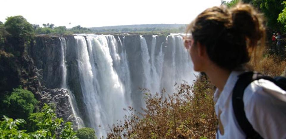
[[[0,21],[22,15],[32,24],[83,27],[187,24],[221,0],[3,0]],[[69,25],[71,23],[71,25]]]

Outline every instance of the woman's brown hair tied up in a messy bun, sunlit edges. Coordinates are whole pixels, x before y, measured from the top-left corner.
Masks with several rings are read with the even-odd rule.
[[[206,47],[211,61],[228,70],[249,62],[265,43],[262,15],[250,4],[208,8],[190,23],[187,33],[195,44]],[[257,49],[258,43],[261,49]]]

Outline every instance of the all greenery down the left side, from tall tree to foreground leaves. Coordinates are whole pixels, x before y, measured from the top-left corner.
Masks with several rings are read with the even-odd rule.
[[[0,138],[77,138],[71,122],[38,101],[40,75],[28,55],[34,37],[22,16],[0,22]]]

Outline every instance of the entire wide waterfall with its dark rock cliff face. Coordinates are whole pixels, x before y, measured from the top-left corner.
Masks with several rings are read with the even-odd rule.
[[[66,89],[77,126],[92,127],[98,136],[123,119],[123,108],[145,107],[140,88],[172,93],[175,83],[195,79],[181,36],[84,34],[58,40],[42,41],[44,48],[32,52],[43,69],[42,83]]]

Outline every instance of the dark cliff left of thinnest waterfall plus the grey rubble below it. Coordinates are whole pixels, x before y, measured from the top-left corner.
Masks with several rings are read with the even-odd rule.
[[[69,37],[69,36],[68,36]],[[73,36],[70,36],[73,38]],[[57,36],[35,37],[35,44],[29,48],[34,70],[38,71],[39,94],[41,104],[54,104],[58,117],[65,121],[74,121],[68,90],[60,89],[62,85],[61,42]],[[80,90],[80,89],[79,89]],[[35,92],[35,91],[33,91]]]

